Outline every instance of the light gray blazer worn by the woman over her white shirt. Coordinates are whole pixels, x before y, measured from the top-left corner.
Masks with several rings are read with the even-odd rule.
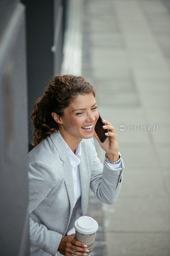
[[[58,246],[74,222],[84,216],[89,188],[103,203],[114,204],[122,184],[121,168],[112,170],[100,163],[93,138],[81,141],[79,164],[81,196],[74,205],[72,166],[58,132],[43,139],[28,154],[30,255],[58,255]]]

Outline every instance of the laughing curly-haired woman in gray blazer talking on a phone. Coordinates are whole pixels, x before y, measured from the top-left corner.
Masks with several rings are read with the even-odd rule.
[[[109,130],[104,143],[94,131],[98,117],[95,92],[81,76],[54,76],[34,103],[34,148],[28,154],[31,255],[86,255],[87,246],[75,240],[74,222],[85,215],[89,188],[106,204],[117,199],[124,165],[112,124],[102,121]],[[104,164],[93,136],[106,152]]]

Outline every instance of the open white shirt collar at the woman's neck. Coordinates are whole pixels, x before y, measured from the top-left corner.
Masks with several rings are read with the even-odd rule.
[[[61,136],[60,131],[58,130],[58,133]],[[63,139],[63,137],[61,136],[61,138]],[[65,140],[63,139],[63,141],[65,142]],[[73,151],[69,148],[68,144],[65,142],[67,151],[69,153],[70,156],[70,162],[73,168],[75,168],[76,166],[78,166],[78,164],[80,164],[80,159],[81,159],[81,142],[78,144],[78,147],[76,148],[76,152],[75,154],[73,153]]]

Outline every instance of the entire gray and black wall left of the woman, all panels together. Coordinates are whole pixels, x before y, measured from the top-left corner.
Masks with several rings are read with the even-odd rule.
[[[60,74],[66,6],[67,0],[22,3],[1,0],[0,255],[3,256],[30,254],[27,154],[33,130],[29,121],[35,99],[42,95],[51,76]]]

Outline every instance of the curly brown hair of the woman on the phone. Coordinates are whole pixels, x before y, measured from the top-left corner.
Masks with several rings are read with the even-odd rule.
[[[34,111],[31,114],[34,128],[31,145],[35,147],[41,140],[58,129],[58,123],[52,117],[52,112],[63,117],[64,109],[74,102],[76,96],[87,93],[95,97],[92,85],[82,76],[53,76],[42,97],[34,102]]]

